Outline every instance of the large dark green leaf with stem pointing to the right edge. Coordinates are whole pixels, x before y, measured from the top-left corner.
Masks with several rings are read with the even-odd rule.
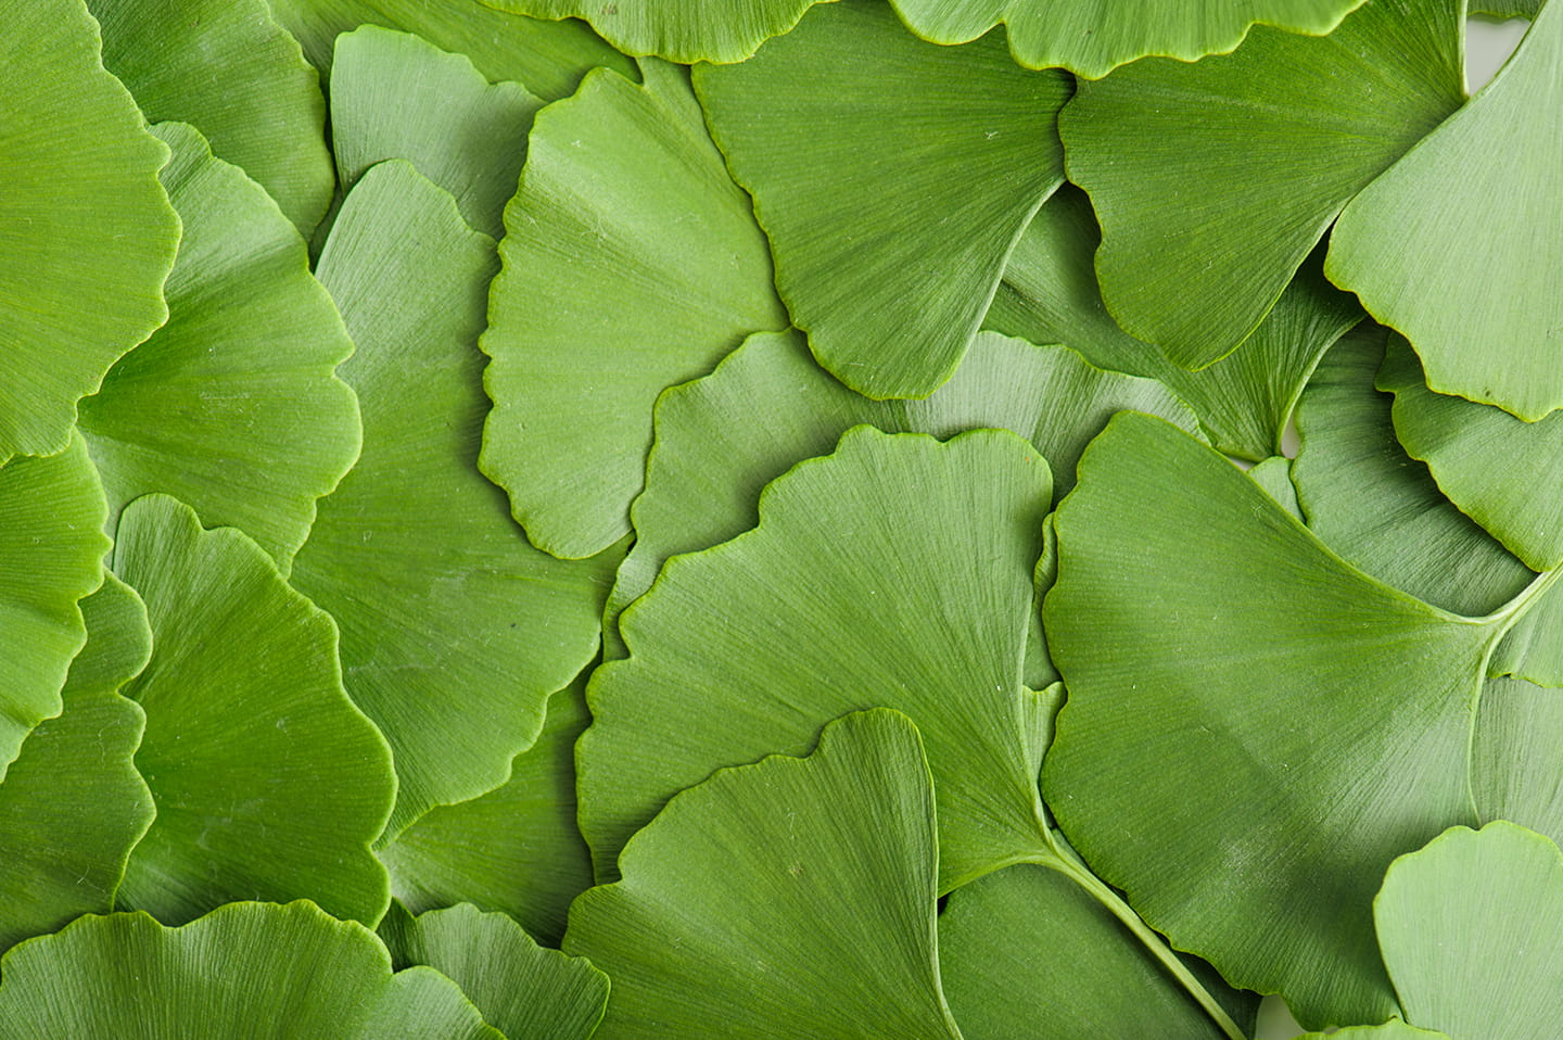
[[[1386,1020],[1377,879],[1474,819],[1486,658],[1552,579],[1482,619],[1415,601],[1147,416],[1113,419],[1078,480],[1044,605],[1069,688],[1047,805],[1233,985],[1282,993],[1313,1027]]]

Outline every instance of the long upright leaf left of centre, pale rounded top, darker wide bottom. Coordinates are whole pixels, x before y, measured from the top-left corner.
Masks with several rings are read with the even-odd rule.
[[[341,67],[341,66],[338,66]],[[596,654],[614,558],[533,549],[477,471],[494,242],[406,163],[347,195],[320,255],[358,352],[364,450],[294,565],[342,629],[347,691],[395,758],[394,837],[510,776],[549,694]]]

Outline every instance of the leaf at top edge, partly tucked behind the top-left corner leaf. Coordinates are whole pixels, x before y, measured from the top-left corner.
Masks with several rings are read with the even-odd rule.
[[[103,64],[152,122],[188,122],[309,235],[331,205],[325,99],[266,0],[88,0]]]

